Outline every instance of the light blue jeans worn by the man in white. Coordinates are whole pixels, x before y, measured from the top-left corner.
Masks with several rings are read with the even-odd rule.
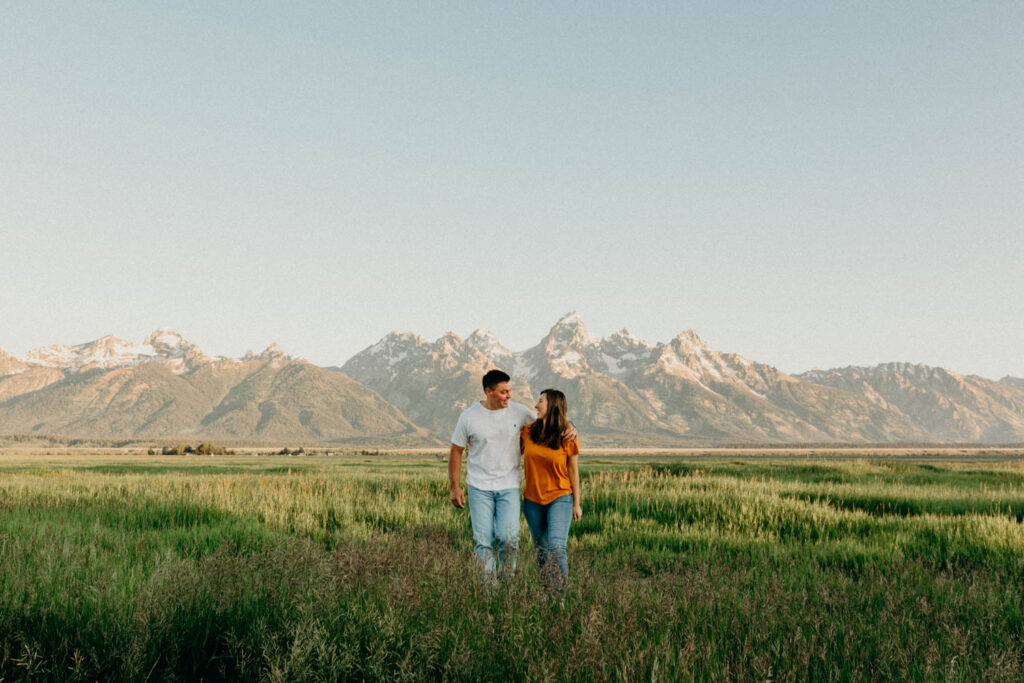
[[[484,490],[466,486],[473,523],[474,553],[483,565],[484,581],[498,572],[515,572],[519,549],[519,488]]]

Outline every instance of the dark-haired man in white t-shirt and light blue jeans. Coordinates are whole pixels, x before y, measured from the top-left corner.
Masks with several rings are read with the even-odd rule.
[[[510,379],[500,370],[483,376],[484,399],[459,416],[449,457],[452,505],[462,509],[467,495],[459,486],[459,475],[462,454],[469,449],[466,487],[476,546],[473,552],[483,565],[487,583],[493,583],[498,572],[515,571],[522,482],[519,433],[535,419],[532,411],[510,400]]]

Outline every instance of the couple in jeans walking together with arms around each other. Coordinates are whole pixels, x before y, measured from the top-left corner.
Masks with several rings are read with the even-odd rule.
[[[510,401],[509,381],[500,370],[488,372],[483,376],[484,399],[459,416],[449,458],[452,504],[466,506],[459,476],[468,447],[469,517],[484,580],[489,584],[499,571],[515,571],[521,455],[526,480],[522,512],[537,547],[538,568],[549,587],[563,592],[569,575],[565,555],[569,522],[583,517],[577,432],[566,418],[561,391],[541,392],[535,418],[525,405]]]

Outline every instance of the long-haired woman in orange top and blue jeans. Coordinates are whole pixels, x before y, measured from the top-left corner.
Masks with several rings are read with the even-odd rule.
[[[537,547],[537,566],[549,588],[565,591],[569,577],[565,542],[569,522],[583,517],[580,469],[575,438],[565,438],[567,429],[565,394],[545,389],[535,407],[537,420],[522,430],[526,485],[522,494],[522,514]]]

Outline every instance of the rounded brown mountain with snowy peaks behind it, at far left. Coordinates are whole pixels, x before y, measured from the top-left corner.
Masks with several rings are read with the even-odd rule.
[[[211,358],[159,331],[141,346],[109,337],[47,349],[29,354],[40,365],[23,361],[0,377],[0,431],[433,442],[372,389],[276,346],[242,359]]]

